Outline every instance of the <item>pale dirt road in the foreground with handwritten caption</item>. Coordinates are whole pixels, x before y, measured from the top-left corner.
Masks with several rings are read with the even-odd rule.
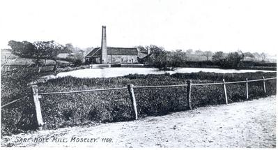
[[[276,147],[275,107],[276,96],[270,96],[137,121],[22,133],[3,137],[1,146]]]

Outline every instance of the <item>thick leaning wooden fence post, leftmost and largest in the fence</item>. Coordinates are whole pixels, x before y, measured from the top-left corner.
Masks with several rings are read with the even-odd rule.
[[[42,117],[42,112],[40,110],[40,100],[38,100],[38,86],[32,85],[31,87],[33,91],[33,101],[35,104],[36,117],[38,121],[38,130],[43,130],[43,117]]]

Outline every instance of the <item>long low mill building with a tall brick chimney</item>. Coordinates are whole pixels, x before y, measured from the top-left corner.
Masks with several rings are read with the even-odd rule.
[[[94,48],[85,57],[85,62],[94,64],[138,63],[138,59],[146,57],[146,52],[140,52],[137,47],[107,47],[106,27],[102,26],[101,47]]]

